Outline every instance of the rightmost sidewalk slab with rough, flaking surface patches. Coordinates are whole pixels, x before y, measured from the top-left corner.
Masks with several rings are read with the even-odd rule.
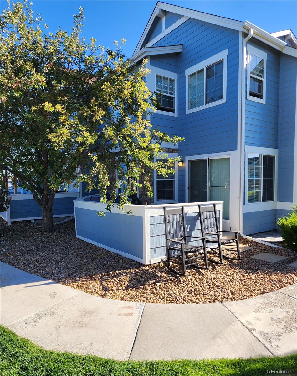
[[[278,291],[226,302],[235,317],[274,355],[297,351],[297,301]]]

